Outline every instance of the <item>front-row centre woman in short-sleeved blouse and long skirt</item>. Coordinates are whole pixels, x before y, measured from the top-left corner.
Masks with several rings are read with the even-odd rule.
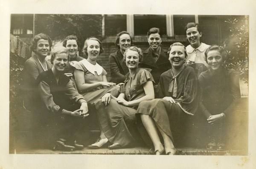
[[[134,143],[135,139],[125,122],[136,127],[137,106],[143,100],[154,99],[154,79],[147,70],[138,68],[141,59],[141,49],[129,47],[124,54],[129,74],[124,85],[120,87],[120,95],[115,98],[107,93],[105,98],[95,102],[100,125],[107,137],[105,143],[108,140],[113,143],[109,146],[110,149],[127,147]]]

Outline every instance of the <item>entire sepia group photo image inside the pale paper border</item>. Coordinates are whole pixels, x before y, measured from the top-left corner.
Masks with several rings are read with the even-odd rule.
[[[9,153],[248,155],[248,19],[11,14]]]

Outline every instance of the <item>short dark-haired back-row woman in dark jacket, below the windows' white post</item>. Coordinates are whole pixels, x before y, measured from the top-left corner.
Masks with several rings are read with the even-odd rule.
[[[151,28],[148,30],[148,43],[149,48],[143,52],[140,67],[151,69],[155,83],[158,84],[160,75],[172,67],[168,60],[167,51],[160,47],[162,34],[159,28]]]

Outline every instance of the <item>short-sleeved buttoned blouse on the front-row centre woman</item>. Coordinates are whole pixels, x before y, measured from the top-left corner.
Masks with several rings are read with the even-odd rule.
[[[154,78],[150,72],[145,69],[138,69],[134,75],[128,73],[124,85],[120,87],[120,93],[124,93],[127,101],[137,100],[145,96],[143,84],[152,81]]]

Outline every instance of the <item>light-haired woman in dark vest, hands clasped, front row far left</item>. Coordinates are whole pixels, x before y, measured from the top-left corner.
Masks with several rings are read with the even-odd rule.
[[[52,69],[39,74],[36,84],[43,107],[51,113],[56,132],[54,149],[75,150],[84,146],[76,143],[75,132],[79,130],[79,117],[88,114],[87,103],[73,86],[72,81],[63,74],[68,64],[68,51],[56,47],[51,54]],[[74,104],[75,103],[75,104]]]

